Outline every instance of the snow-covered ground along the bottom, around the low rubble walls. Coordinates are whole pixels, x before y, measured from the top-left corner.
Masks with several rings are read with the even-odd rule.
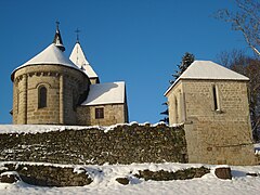
[[[220,180],[211,172],[199,179],[178,181],[144,181],[130,179],[130,184],[121,185],[115,181],[116,178],[126,177],[129,171],[133,173],[140,169],[150,170],[179,170],[186,167],[200,167],[202,165],[191,164],[142,164],[142,165],[103,165],[87,166],[89,170],[102,170],[103,173],[93,171],[93,182],[90,185],[77,187],[40,187],[27,185],[23,182],[15,184],[0,183],[0,194],[109,194],[109,195],[258,195],[260,193],[260,177],[246,176],[247,172],[260,173],[260,166],[232,168],[232,180]]]

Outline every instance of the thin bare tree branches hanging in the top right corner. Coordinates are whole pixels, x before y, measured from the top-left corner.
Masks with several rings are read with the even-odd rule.
[[[233,30],[242,31],[251,50],[260,56],[260,1],[235,0],[237,12],[219,10],[217,18],[232,24]]]

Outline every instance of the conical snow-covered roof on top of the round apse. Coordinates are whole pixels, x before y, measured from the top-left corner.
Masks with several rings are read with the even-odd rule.
[[[12,75],[20,68],[29,66],[29,65],[62,65],[62,66],[68,66],[72,68],[79,69],[78,66],[76,66],[69,58],[67,58],[64,53],[54,44],[51,43],[49,47],[47,47],[42,52],[40,52],[38,55],[23,64],[22,66],[15,68],[12,73]]]

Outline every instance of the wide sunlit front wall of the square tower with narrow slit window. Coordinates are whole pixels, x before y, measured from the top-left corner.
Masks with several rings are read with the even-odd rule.
[[[190,162],[255,165],[247,82],[184,80],[182,86]]]

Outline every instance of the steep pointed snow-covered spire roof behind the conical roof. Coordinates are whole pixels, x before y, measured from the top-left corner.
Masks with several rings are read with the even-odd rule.
[[[89,78],[98,78],[98,75],[95,74],[93,68],[90,66],[88,60],[86,58],[79,42],[76,42],[69,56],[69,60],[74,64],[76,64],[79,68],[83,68],[82,70],[88,75]]]

